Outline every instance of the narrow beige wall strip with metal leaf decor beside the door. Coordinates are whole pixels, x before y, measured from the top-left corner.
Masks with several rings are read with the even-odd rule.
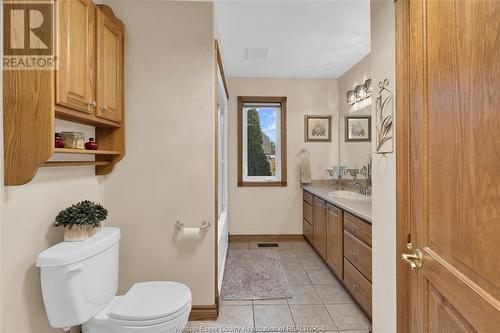
[[[371,35],[373,86],[377,87],[378,82],[389,79],[389,89],[395,92],[395,13],[392,0],[371,1]],[[395,99],[393,103],[395,106]],[[372,117],[375,119],[375,105],[372,105]],[[393,124],[395,123],[393,119]],[[395,333],[395,258],[397,258],[395,154],[373,155],[372,206],[373,327],[374,332]]]

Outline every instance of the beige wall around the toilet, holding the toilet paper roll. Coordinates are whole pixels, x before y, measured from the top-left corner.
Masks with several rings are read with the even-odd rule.
[[[84,199],[104,201],[108,224],[122,229],[120,292],[138,281],[176,280],[191,287],[194,304],[214,303],[213,228],[199,242],[174,238],[177,219],[213,223],[212,4],[111,5],[126,25],[127,156],[111,177],[53,168],[28,185],[0,185],[1,332],[61,331],[48,323],[34,264],[62,240],[50,226],[55,215]]]

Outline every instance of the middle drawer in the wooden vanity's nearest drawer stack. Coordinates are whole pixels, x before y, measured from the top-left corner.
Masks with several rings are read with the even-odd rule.
[[[345,230],[344,257],[368,280],[372,280],[372,249]]]

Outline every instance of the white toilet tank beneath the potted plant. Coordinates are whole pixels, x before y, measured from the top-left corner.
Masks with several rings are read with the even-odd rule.
[[[120,229],[82,242],[62,242],[43,251],[40,267],[45,310],[55,328],[80,325],[111,302],[118,287]]]

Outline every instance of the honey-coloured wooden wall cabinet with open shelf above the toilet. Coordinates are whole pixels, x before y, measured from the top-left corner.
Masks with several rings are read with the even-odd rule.
[[[5,185],[28,183],[40,167],[91,165],[106,175],[125,155],[123,23],[90,0],[55,3],[57,70],[3,71]],[[94,126],[99,150],[54,148],[55,118]],[[48,161],[61,153],[95,161]]]

